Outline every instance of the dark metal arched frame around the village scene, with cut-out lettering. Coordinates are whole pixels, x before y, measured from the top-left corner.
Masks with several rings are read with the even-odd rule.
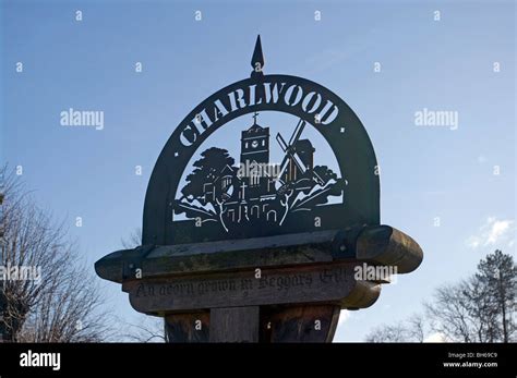
[[[215,121],[199,135],[199,139],[193,147],[185,147],[180,143],[182,127],[175,130],[156,161],[147,186],[143,219],[143,244],[171,245],[380,224],[380,180],[372,143],[361,121],[350,107],[336,94],[317,83],[291,75],[256,75],[230,84],[213,94],[195,107],[180,125],[188,124],[203,109],[213,107],[214,101],[218,99],[224,101],[229,93],[240,88],[249,88],[252,85],[261,85],[262,82],[286,83],[286,87],[299,85],[306,92],[322,94],[338,107],[339,112],[336,119],[328,124],[318,124],[315,129],[332,148],[342,178],[347,182],[344,187],[344,203],[322,206],[322,211],[324,210],[322,212],[323,219],[318,225],[315,225],[313,219],[305,217],[305,219],[299,218],[297,221],[288,222],[282,227],[263,230],[262,234],[256,234],[256,227],[243,227],[240,232],[225,234],[214,229],[217,225],[213,225],[213,229],[206,227],[200,230],[194,227],[193,220],[172,221],[172,204],[184,169],[196,153],[197,147],[224,124],[252,112],[279,111],[301,118],[314,125],[314,118],[309,118],[308,113],[300,107],[292,107],[282,101],[276,103],[263,101],[258,105],[247,106],[229,112],[224,118]],[[175,230],[175,224],[178,225],[182,222],[189,223],[182,230]]]

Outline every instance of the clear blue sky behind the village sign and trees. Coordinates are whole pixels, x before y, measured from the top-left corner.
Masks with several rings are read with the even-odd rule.
[[[417,271],[344,317],[336,341],[361,341],[418,312],[434,288],[467,277],[495,248],[515,256],[512,1],[1,4],[0,157],[23,167],[36,200],[67,219],[91,263],[141,227],[166,141],[195,105],[249,76],[257,34],[266,73],[317,82],[359,115],[382,170],[382,222],[424,251]],[[69,108],[103,110],[104,130],[61,126]],[[457,111],[458,129],[417,126],[423,108]],[[120,316],[135,316],[119,285],[103,285]]]

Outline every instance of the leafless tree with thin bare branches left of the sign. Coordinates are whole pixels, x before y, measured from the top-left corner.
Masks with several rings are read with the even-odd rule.
[[[93,270],[81,265],[64,223],[39,209],[14,172],[0,169],[0,333],[11,342],[88,342],[109,334]]]

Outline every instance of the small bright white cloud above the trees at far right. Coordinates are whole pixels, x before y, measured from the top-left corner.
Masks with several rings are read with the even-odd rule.
[[[478,234],[467,239],[467,246],[476,249],[480,246],[497,246],[508,242],[512,231],[515,231],[514,224],[515,221],[512,219],[498,220],[495,217],[489,217],[485,223],[479,228]]]

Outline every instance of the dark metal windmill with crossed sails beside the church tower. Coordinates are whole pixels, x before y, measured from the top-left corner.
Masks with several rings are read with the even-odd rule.
[[[276,139],[280,145],[281,150],[286,154],[280,164],[279,178],[288,183],[293,183],[302,176],[306,176],[308,171],[313,172],[314,178],[318,183],[323,180],[313,171],[313,154],[315,151],[309,139],[300,139],[306,122],[300,119],[294,132],[292,133],[289,143],[286,143],[280,133],[276,134]]]

